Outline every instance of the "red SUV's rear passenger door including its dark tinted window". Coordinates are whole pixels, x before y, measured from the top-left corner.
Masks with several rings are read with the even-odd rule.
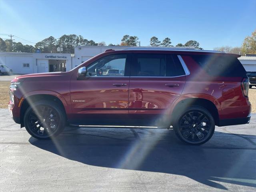
[[[186,82],[175,54],[133,54],[129,114],[166,114]]]

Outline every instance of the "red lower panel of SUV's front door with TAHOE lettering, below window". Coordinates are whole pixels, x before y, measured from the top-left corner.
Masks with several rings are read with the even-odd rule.
[[[124,83],[126,86],[113,86],[114,83]],[[128,88],[128,77],[90,77],[87,80],[72,80],[70,83],[71,101],[85,101],[72,102],[72,113],[128,114]]]

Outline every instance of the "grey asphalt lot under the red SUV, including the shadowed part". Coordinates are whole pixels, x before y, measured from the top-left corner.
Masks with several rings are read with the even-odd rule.
[[[255,191],[256,114],[202,146],[173,130],[70,128],[37,140],[0,110],[0,190]]]

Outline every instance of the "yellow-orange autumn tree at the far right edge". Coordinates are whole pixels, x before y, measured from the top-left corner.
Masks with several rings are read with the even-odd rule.
[[[243,54],[256,54],[256,30],[252,32],[252,36],[247,36],[242,44]]]

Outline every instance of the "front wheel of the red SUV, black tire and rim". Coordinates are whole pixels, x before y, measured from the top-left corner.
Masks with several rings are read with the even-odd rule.
[[[56,102],[41,100],[28,107],[24,114],[24,125],[34,138],[54,138],[64,129],[66,115]]]

